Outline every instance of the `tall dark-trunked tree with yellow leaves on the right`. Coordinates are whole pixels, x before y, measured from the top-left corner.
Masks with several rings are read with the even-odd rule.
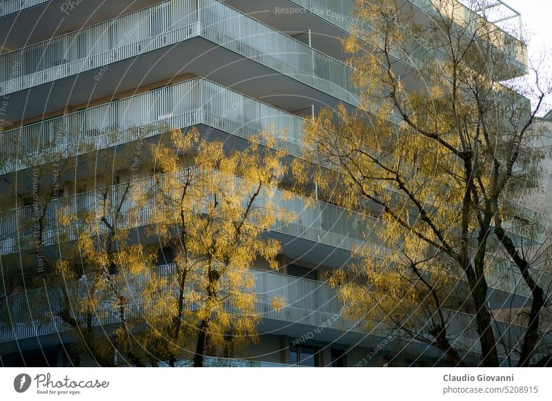
[[[333,282],[353,305],[351,317],[437,347],[452,364],[469,362],[473,349],[461,342],[471,318],[458,309],[469,308],[480,342],[475,363],[497,366],[500,349],[528,366],[540,352],[549,298],[537,280],[546,275],[521,251],[536,238],[528,244],[517,235],[537,222],[507,199],[529,194],[538,174],[544,155],[533,147],[533,122],[550,86],[533,65],[534,85],[504,85],[513,67],[503,50],[519,50],[515,41],[473,12],[466,17],[456,1],[431,3],[431,22],[420,26],[393,0],[357,1],[360,22],[343,43],[359,107],[322,110],[306,125],[313,151],[305,158],[320,166],[319,192],[382,219],[374,232],[383,246],[354,249],[361,261]],[[420,46],[408,32],[431,44]],[[428,53],[433,48],[446,58]],[[424,63],[405,68],[416,57]],[[299,183],[310,180],[312,167],[297,161],[294,168]],[[517,351],[504,344],[488,304],[489,285],[510,266],[531,302]],[[539,267],[549,271],[550,263]]]

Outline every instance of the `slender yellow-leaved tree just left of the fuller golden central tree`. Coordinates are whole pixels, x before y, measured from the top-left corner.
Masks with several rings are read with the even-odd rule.
[[[139,139],[133,146],[99,150],[95,163],[88,165],[92,171],[81,172],[94,177],[95,189],[67,198],[58,211],[61,242],[71,245],[57,260],[57,276],[63,281],[59,285],[63,302],[57,313],[98,362],[110,359],[113,346],[105,344],[110,336],[95,334],[95,318],[103,325],[115,317],[119,323],[112,336],[115,350],[135,366],[145,365],[133,333],[139,320],[133,312],[141,278],[152,267],[152,255],[131,238],[136,229],[132,222],[139,219],[134,198],[139,181],[130,172],[138,166],[141,170],[150,167],[148,155],[137,150],[146,146],[142,139],[155,129],[137,128]],[[79,277],[83,280],[77,282]],[[98,349],[96,342],[103,347]]]

